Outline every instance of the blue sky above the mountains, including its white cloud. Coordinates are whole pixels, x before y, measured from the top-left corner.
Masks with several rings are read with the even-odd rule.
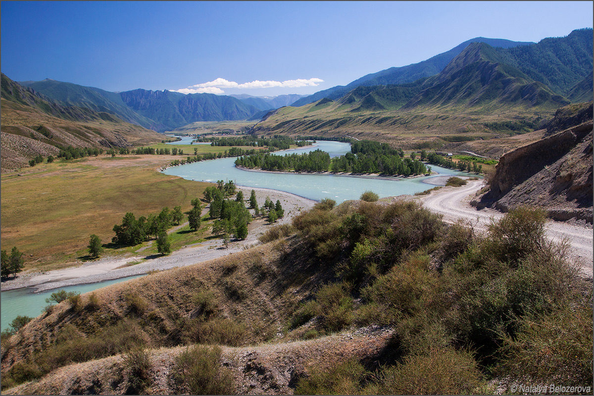
[[[309,94],[473,37],[566,36],[592,15],[591,1],[2,1],[1,69],[109,91]]]

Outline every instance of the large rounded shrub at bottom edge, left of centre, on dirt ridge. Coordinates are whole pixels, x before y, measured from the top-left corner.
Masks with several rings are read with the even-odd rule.
[[[173,363],[172,382],[177,394],[231,395],[235,393],[233,376],[221,367],[219,347],[189,347]]]

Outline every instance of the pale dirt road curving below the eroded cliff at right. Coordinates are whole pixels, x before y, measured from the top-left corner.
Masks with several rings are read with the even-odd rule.
[[[423,202],[425,208],[432,212],[442,214],[446,223],[462,219],[470,222],[475,230],[485,232],[491,220],[498,220],[504,213],[489,208],[476,210],[469,204],[482,186],[483,180],[475,180],[462,187],[443,187],[415,199]],[[547,221],[546,236],[555,242],[567,238],[571,259],[580,265],[580,270],[586,277],[592,278],[592,228],[561,221]]]

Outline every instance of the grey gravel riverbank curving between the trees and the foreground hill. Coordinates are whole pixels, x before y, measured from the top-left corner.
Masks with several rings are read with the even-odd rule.
[[[315,201],[289,194],[288,192],[276,191],[266,188],[238,188],[244,192],[244,197],[249,197],[251,190],[256,193],[258,205],[263,205],[266,197],[273,202],[279,200],[285,209],[285,217],[277,220],[276,224],[290,223],[292,218],[302,210],[313,207]],[[206,208],[203,213],[205,213]],[[181,224],[183,226],[183,224]],[[179,227],[181,227],[179,226]],[[254,246],[258,237],[269,229],[271,224],[266,220],[258,218],[249,224],[249,234],[245,240],[235,240],[225,248],[222,239],[211,239],[205,242],[188,245],[185,248],[172,252],[170,255],[146,256],[139,249],[133,256],[106,257],[98,261],[85,262],[78,267],[64,268],[47,272],[23,273],[14,280],[2,283],[2,290],[18,289],[20,287],[34,287],[36,292],[56,289],[58,287],[72,286],[76,284],[96,283],[105,280],[125,278],[132,275],[146,274],[149,271],[169,270],[170,268],[184,267],[185,265],[197,264],[210,259],[219,258],[235,252],[242,251]],[[134,264],[138,262],[138,264]]]

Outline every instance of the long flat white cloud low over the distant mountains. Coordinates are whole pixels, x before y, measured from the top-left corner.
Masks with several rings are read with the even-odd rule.
[[[323,83],[324,80],[321,78],[298,78],[297,80],[285,80],[285,81],[260,81],[254,80],[250,81],[249,83],[236,83],[235,81],[225,80],[225,78],[217,78],[213,81],[208,81],[207,83],[200,83],[191,85],[188,88],[182,88],[179,90],[174,90],[175,92],[180,92],[184,94],[188,93],[214,93],[214,94],[223,94],[222,88],[238,88],[238,89],[249,89],[249,88],[300,88],[300,87],[317,87],[320,83]]]

